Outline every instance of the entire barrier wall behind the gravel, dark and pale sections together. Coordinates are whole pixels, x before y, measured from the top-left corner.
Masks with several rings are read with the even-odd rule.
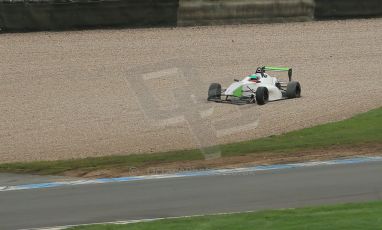
[[[382,0],[0,0],[3,31],[382,16]]]

